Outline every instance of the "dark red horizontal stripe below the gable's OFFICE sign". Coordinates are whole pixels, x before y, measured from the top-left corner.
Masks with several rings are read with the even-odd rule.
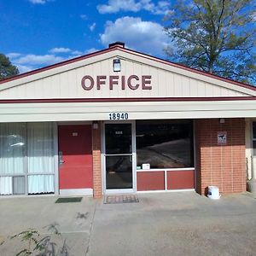
[[[80,99],[21,99],[0,100],[0,103],[65,103],[65,102],[217,102],[256,101],[256,96],[245,97],[162,97],[162,98],[80,98]]]

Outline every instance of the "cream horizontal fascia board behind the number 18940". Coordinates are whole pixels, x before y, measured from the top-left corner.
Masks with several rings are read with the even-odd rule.
[[[256,100],[0,104],[1,122],[108,120],[113,112],[128,113],[129,119],[253,118]]]

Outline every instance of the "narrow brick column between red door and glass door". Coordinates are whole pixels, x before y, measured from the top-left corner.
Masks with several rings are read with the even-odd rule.
[[[102,197],[102,137],[101,125],[92,129],[92,158],[93,158],[93,197]]]

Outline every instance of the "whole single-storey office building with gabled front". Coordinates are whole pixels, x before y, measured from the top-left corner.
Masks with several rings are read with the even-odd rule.
[[[122,43],[0,81],[0,194],[246,190],[256,89]]]

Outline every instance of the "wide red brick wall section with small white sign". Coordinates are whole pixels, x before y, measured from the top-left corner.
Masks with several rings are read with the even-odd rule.
[[[218,145],[218,131],[227,132],[227,144]],[[207,194],[209,185],[220,193],[246,190],[245,119],[195,120],[197,192]]]

